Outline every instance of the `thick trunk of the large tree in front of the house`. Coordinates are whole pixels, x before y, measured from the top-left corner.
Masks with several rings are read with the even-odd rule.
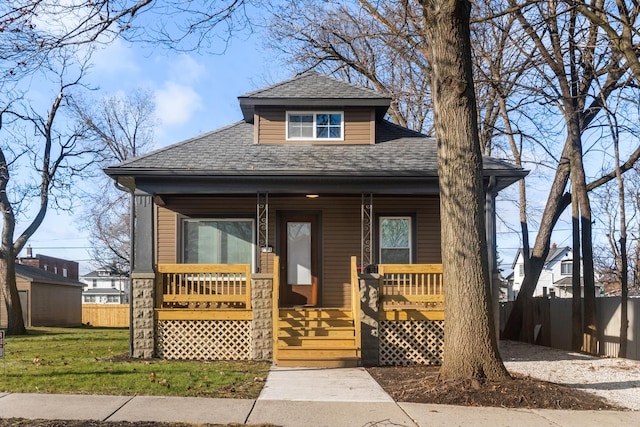
[[[443,379],[509,378],[492,327],[482,156],[466,0],[422,0],[432,93],[445,286]]]

